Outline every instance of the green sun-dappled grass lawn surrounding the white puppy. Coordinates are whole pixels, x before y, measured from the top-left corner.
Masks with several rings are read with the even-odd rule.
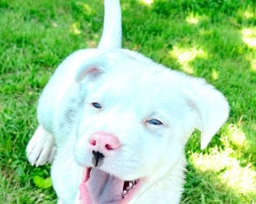
[[[206,150],[198,132],[186,146],[181,203],[256,203],[256,2],[122,0],[122,10],[125,48],[205,78],[230,104]],[[101,0],[0,0],[0,203],[56,203],[50,166],[26,160],[36,102],[68,54],[97,46],[103,14]]]

